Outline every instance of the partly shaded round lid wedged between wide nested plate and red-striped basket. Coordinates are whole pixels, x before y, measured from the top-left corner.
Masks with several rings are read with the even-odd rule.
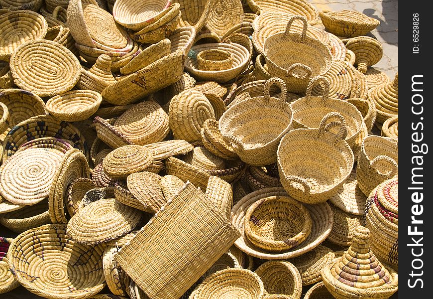
[[[334,224],[328,240],[334,244],[348,246],[352,243],[356,228],[365,225],[364,215],[349,214],[334,205],[330,205],[334,216]]]

